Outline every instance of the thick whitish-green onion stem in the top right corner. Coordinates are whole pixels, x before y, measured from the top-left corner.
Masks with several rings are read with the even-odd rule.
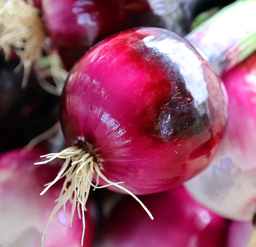
[[[256,0],[237,0],[203,22],[186,39],[224,75],[256,50]]]

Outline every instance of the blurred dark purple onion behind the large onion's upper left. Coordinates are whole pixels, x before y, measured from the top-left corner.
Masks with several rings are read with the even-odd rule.
[[[124,23],[123,0],[41,0],[44,23],[65,67]]]

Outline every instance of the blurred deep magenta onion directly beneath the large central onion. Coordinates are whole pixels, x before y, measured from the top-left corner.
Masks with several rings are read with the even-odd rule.
[[[228,221],[195,202],[182,187],[140,199],[154,221],[126,197],[105,224],[102,247],[226,247]]]

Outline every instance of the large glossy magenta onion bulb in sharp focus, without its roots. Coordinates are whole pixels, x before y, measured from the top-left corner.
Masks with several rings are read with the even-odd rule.
[[[227,98],[186,40],[165,29],[131,29],[74,66],[60,119],[67,145],[93,144],[109,180],[149,194],[207,167],[224,135]]]

